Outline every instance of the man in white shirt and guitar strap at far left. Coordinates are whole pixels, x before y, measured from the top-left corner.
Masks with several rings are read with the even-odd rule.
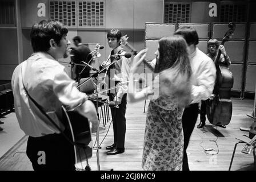
[[[79,92],[65,67],[58,63],[58,59],[67,57],[70,44],[67,32],[66,27],[54,20],[34,24],[30,33],[34,53],[15,68],[11,78],[15,114],[19,126],[29,135],[26,152],[34,170],[75,170],[74,146],[63,136],[70,133],[63,122],[62,105],[78,111],[94,127],[98,123],[93,102]],[[40,159],[42,156],[45,160]]]

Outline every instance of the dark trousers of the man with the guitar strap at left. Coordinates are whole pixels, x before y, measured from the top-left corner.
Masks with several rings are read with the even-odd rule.
[[[29,137],[27,156],[35,171],[75,170],[74,147],[62,134]]]

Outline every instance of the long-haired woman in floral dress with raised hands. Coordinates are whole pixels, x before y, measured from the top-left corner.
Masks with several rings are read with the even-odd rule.
[[[131,73],[145,59],[146,49],[134,57]],[[186,41],[181,36],[159,40],[155,52],[154,88],[147,86],[141,92],[129,84],[130,102],[150,99],[147,110],[142,168],[145,170],[182,170],[183,130],[182,113],[190,103],[191,67]],[[159,74],[158,74],[159,73]],[[129,80],[133,80],[132,74]],[[157,86],[158,85],[158,86]]]

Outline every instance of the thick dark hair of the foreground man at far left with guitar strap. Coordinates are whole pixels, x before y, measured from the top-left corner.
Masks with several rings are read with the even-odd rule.
[[[35,23],[30,32],[31,45],[34,52],[45,52],[50,49],[50,40],[54,41],[59,46],[59,43],[64,35],[67,35],[66,27],[63,27],[61,22],[55,20],[42,20]]]

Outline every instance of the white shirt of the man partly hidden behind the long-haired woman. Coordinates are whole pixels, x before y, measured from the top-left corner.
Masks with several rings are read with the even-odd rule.
[[[198,48],[195,49],[190,58],[192,69],[192,99],[191,104],[199,103],[201,100],[207,100],[213,93],[216,68],[213,61]]]

